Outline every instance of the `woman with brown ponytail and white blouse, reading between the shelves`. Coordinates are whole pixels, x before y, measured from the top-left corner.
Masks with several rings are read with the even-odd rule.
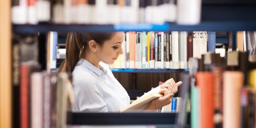
[[[129,105],[130,97],[115,79],[111,70],[101,64],[113,64],[123,54],[124,32],[85,33],[70,32],[66,41],[66,59],[58,72],[72,72],[74,99],[72,111],[118,112]],[[163,84],[159,93],[145,109],[158,109],[171,103],[171,93],[177,86],[170,79]]]

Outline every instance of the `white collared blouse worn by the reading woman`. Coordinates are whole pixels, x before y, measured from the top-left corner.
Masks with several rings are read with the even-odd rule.
[[[111,70],[103,63],[99,68],[83,58],[77,62],[72,73],[72,111],[118,112],[130,104],[128,93]]]

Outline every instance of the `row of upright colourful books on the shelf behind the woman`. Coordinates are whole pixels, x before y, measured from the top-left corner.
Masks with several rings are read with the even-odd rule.
[[[187,69],[189,57],[215,52],[215,44],[216,32],[125,32],[123,54],[110,68]],[[224,48],[216,51],[225,56]],[[65,49],[57,49],[57,58],[65,58]]]

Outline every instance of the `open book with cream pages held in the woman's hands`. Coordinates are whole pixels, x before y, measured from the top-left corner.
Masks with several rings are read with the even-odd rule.
[[[158,93],[160,89],[161,89],[160,86],[158,86],[153,90],[150,90],[148,93],[145,93],[143,96],[140,96],[139,99],[135,100],[130,105],[123,108],[120,112],[132,111],[132,110],[142,111],[144,108],[146,108],[150,104],[150,102],[153,99],[156,99],[158,97],[163,97],[163,94]]]

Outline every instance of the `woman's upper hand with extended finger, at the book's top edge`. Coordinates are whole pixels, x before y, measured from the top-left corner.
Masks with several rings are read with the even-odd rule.
[[[178,87],[182,84],[182,81],[175,83],[174,79],[169,79],[160,85],[161,88],[167,88],[171,93],[175,94],[178,91]]]

